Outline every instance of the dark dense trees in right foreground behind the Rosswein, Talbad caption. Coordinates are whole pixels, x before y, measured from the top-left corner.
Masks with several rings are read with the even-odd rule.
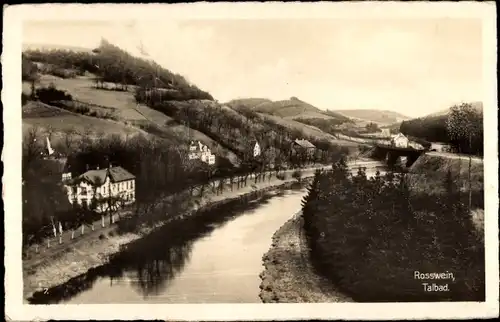
[[[303,200],[311,260],[355,301],[484,300],[484,243],[451,173],[446,193],[416,193],[405,175],[319,172]],[[475,207],[483,207],[475,195]],[[414,272],[453,272],[448,292],[424,292]]]

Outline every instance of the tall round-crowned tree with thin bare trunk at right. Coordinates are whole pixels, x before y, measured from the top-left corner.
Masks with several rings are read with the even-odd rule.
[[[448,119],[446,120],[448,135],[458,141],[460,149],[461,143],[466,142],[469,154],[469,169],[467,180],[469,183],[469,211],[472,207],[472,142],[482,134],[482,115],[468,103],[451,107]],[[459,150],[459,152],[461,152]]]

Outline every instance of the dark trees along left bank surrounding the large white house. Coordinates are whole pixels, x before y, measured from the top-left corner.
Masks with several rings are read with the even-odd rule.
[[[23,236],[28,244],[28,241],[35,242],[50,234],[54,221],[61,221],[65,229],[72,229],[100,216],[92,214],[92,209],[75,208],[69,204],[61,182],[63,164],[43,159],[44,142],[45,137],[36,127],[28,131],[23,140]],[[264,173],[268,170],[258,160],[243,163],[240,167],[229,162],[208,166],[199,160],[189,160],[187,146],[142,136],[91,139],[66,133],[54,148],[68,152],[66,162],[74,175],[87,169],[104,169],[110,164],[120,165],[133,173],[136,176],[133,209],[136,224],[161,221],[164,216],[175,212],[175,205],[184,205],[195,194],[198,197],[203,197],[207,191],[219,194],[228,182],[231,189],[247,186],[251,174],[255,174],[255,183],[265,180]],[[274,174],[280,170],[276,167]],[[271,173],[267,179],[270,176]],[[223,178],[226,180],[221,180]],[[185,193],[179,194],[181,191]],[[177,196],[164,202],[167,196],[173,195]],[[169,209],[168,213],[157,212],[157,218],[142,216],[152,213],[160,205],[166,207],[166,204],[170,204],[164,208]]]

